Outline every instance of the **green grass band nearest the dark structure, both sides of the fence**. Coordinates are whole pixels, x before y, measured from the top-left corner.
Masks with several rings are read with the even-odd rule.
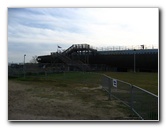
[[[158,73],[145,73],[145,72],[103,72],[112,78],[116,78],[132,85],[141,87],[158,95]],[[86,72],[67,72],[59,74],[49,74],[48,76],[26,76],[26,78],[15,78],[18,81],[24,82],[37,82],[37,83],[50,83],[60,87],[67,87],[68,84],[82,84],[83,86],[89,85],[94,87],[100,84],[101,75]]]

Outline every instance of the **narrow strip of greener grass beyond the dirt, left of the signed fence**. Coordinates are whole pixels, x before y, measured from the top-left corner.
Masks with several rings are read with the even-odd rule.
[[[100,75],[84,72],[67,72],[59,74],[49,74],[48,76],[26,76],[15,78],[18,81],[37,82],[37,83],[58,83],[59,86],[67,86],[67,84],[99,84]],[[58,85],[57,85],[58,86]]]

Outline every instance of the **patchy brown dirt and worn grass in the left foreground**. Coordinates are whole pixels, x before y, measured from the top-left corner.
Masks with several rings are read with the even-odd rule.
[[[97,87],[8,81],[9,120],[130,120],[127,107]]]

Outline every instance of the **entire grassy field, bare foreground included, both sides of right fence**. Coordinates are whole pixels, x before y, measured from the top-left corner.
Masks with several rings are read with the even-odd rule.
[[[157,73],[104,74],[158,94]],[[121,102],[108,101],[100,84],[100,73],[67,72],[9,78],[9,119],[138,119]]]

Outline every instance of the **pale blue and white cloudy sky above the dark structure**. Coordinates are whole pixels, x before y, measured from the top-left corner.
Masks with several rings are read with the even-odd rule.
[[[157,8],[8,8],[8,62],[26,62],[72,44],[159,43]]]

